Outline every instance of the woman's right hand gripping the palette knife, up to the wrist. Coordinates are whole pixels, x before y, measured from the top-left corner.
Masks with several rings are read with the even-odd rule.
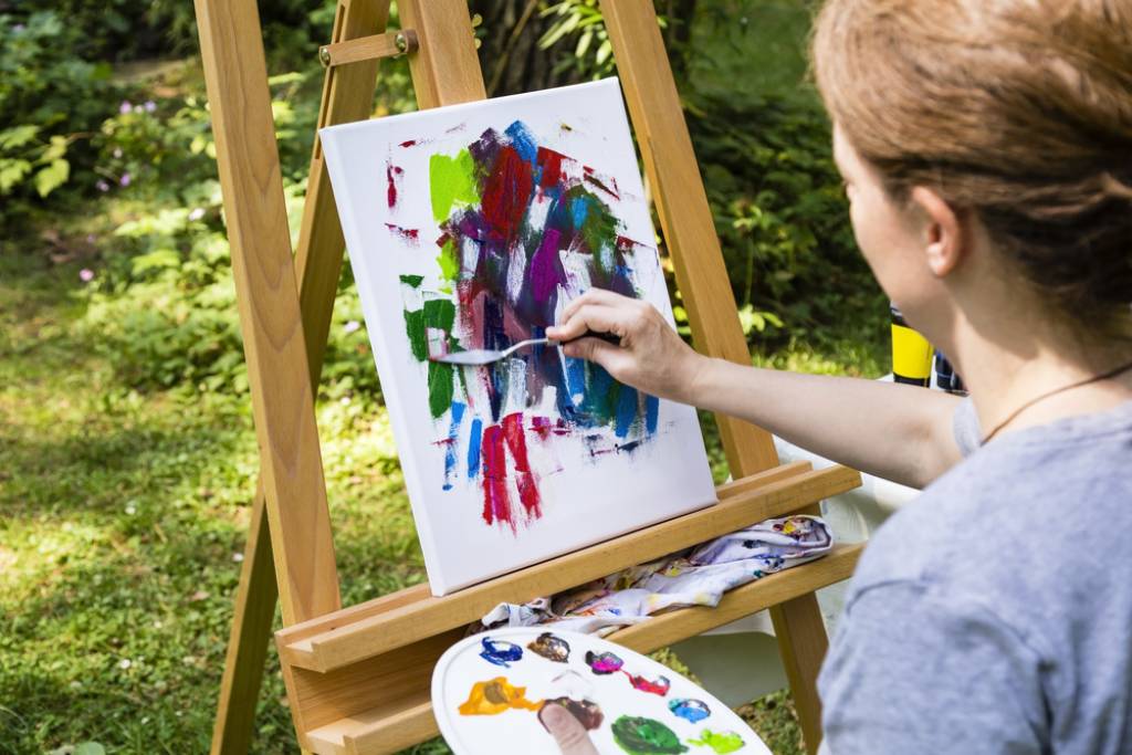
[[[582,337],[586,332],[610,333],[620,345]],[[602,289],[572,301],[558,326],[547,328],[547,337],[569,341],[563,344],[567,357],[597,362],[621,383],[685,404],[695,404],[695,380],[709,361],[680,340],[655,307]]]

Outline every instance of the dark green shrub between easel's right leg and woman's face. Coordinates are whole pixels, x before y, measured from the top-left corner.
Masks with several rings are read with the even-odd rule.
[[[781,340],[787,331],[797,336],[883,319],[885,301],[857,251],[829,122],[816,103],[710,97],[686,108],[748,334],[784,324]]]

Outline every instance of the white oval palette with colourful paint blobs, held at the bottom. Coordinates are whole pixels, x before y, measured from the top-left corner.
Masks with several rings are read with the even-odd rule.
[[[569,652],[564,660],[560,653],[549,658],[542,652],[549,646]],[[506,670],[484,654],[489,647],[508,653]],[[590,635],[552,627],[491,630],[453,645],[432,672],[434,713],[445,740],[461,755],[556,752],[540,720],[550,703],[582,723],[599,753],[770,755],[755,732],[707,692]]]

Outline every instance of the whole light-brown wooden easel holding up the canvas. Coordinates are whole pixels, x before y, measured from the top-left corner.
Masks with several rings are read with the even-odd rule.
[[[254,0],[195,0],[212,108],[232,267],[261,471],[213,736],[213,753],[248,749],[276,597],[276,634],[299,743],[319,754],[391,753],[436,736],[429,680],[436,659],[499,601],[523,602],[582,584],[771,516],[815,511],[860,484],[840,466],[779,465],[764,430],[719,417],[735,482],[720,504],[463,590],[426,586],[343,609],[315,427],[314,391],[342,265],[343,238],[316,141],[299,248],[292,257],[259,17]],[[652,0],[603,0],[621,85],[666,244],[697,348],[748,361]],[[377,60],[410,54],[420,108],[486,96],[466,0],[340,0],[319,126],[362,120]],[[826,637],[814,590],[850,575],[859,546],[611,640],[648,652],[770,608],[813,753],[821,739],[815,679]],[[274,570],[272,568],[274,561]]]

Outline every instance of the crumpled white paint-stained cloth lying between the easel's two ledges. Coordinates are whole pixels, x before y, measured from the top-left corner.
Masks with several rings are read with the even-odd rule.
[[[554,598],[499,603],[475,628],[554,624],[606,635],[666,609],[715,606],[728,590],[821,558],[832,546],[833,535],[820,517],[766,520]]]

